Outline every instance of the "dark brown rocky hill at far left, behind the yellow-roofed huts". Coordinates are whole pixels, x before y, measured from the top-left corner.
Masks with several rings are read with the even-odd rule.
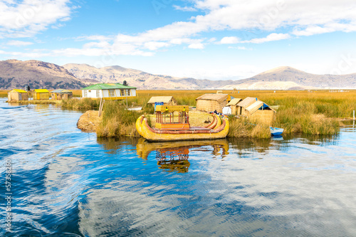
[[[65,68],[38,60],[0,61],[0,89],[23,88],[79,89],[85,87]]]

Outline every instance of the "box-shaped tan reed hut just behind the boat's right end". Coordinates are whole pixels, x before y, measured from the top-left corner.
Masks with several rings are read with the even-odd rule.
[[[222,112],[222,108],[231,100],[228,94],[204,94],[197,100],[197,110],[205,112]]]

